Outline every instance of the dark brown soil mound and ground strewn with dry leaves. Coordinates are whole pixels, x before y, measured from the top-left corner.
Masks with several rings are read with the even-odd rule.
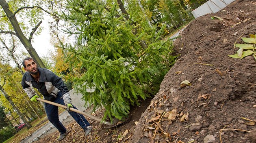
[[[256,34],[255,0],[236,0],[195,19],[175,41],[180,58],[152,101],[142,101],[130,120],[115,128],[89,120],[93,131],[88,137],[72,122],[60,142],[256,143],[256,60],[228,57],[238,50],[236,40],[243,43],[239,37],[249,34]],[[180,87],[184,80],[192,85]],[[101,117],[102,111],[94,115]],[[58,135],[38,142],[56,142]]]

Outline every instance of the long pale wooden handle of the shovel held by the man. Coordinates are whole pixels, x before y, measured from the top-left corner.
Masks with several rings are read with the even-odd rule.
[[[55,103],[55,102],[51,102],[51,101],[48,101],[48,100],[44,100],[44,99],[41,99],[41,98],[36,98],[37,101],[42,101],[42,102],[45,102],[45,103],[49,103],[51,105],[55,105],[55,106],[58,106],[58,107],[62,107],[64,109],[67,109],[67,106],[65,105],[61,105],[61,104],[58,104],[58,103]],[[74,109],[72,107],[69,108],[70,111],[74,111],[76,113],[79,113],[79,114],[82,114],[82,115],[85,115],[89,118],[92,118],[93,120],[96,120],[96,121],[99,121],[99,122],[102,122],[103,124],[106,124],[106,125],[112,125],[110,122],[106,122],[106,121],[102,121],[102,119],[96,117],[96,116],[93,116],[91,114],[88,114],[88,113],[85,113],[85,112],[82,112],[82,111],[79,111],[78,109]]]

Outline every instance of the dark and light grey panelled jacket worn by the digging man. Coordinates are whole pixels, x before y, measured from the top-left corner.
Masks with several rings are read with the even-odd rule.
[[[28,72],[22,77],[22,88],[27,93],[28,97],[31,99],[36,95],[33,87],[37,88],[44,99],[48,101],[54,101],[58,92],[61,91],[65,105],[68,103],[71,104],[69,90],[67,89],[67,86],[65,86],[63,80],[49,69],[38,68],[38,71],[40,74],[38,83]]]

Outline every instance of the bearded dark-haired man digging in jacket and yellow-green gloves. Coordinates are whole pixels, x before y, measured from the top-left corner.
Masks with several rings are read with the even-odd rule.
[[[67,111],[69,114],[85,130],[85,136],[89,135],[92,126],[85,119],[85,117],[76,112],[69,111],[70,107],[74,109],[77,108],[72,105],[69,90],[67,89],[67,86],[65,86],[63,80],[48,69],[38,68],[35,60],[30,57],[24,59],[22,65],[27,72],[23,75],[21,84],[23,90],[27,93],[30,100],[37,102],[36,98],[39,97],[34,90],[34,88],[37,88],[45,100],[67,106]],[[67,129],[59,120],[58,107],[48,103],[44,103],[44,105],[48,120],[60,132],[60,136],[57,140],[61,141],[64,139]]]

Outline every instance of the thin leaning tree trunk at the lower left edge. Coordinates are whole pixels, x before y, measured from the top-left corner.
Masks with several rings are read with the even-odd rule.
[[[24,116],[22,115],[22,113],[20,112],[20,110],[15,106],[15,104],[13,103],[13,101],[10,99],[9,95],[4,91],[4,88],[2,88],[2,86],[0,85],[0,90],[3,93],[4,97],[7,99],[7,101],[9,101],[9,103],[11,104],[11,106],[13,107],[13,109],[17,112],[17,114],[20,116],[20,118],[22,119],[22,121],[26,124],[27,128],[31,128],[31,124],[28,123],[28,121],[24,118]]]

